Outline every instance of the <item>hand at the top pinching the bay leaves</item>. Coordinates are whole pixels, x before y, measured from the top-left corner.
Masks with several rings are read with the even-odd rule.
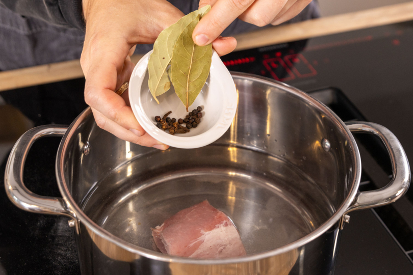
[[[199,46],[214,41],[225,28],[239,18],[245,22],[265,26],[278,25],[299,14],[312,0],[200,0],[199,8],[211,5],[192,34]]]

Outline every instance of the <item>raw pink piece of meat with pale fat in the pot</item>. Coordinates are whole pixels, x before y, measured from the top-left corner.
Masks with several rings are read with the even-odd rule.
[[[190,258],[246,255],[234,224],[208,201],[181,210],[151,229],[156,245],[164,254]]]

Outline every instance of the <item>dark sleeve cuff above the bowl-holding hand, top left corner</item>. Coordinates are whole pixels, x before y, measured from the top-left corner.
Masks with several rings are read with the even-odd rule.
[[[23,16],[85,30],[82,0],[0,0],[0,5]]]

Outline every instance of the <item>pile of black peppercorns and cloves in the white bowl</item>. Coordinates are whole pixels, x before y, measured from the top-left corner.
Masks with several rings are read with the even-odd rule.
[[[176,120],[175,118],[168,117],[172,111],[166,113],[162,118],[160,116],[155,117],[155,122],[157,122],[157,127],[162,130],[168,130],[170,134],[175,135],[175,133],[188,133],[189,129],[196,128],[199,123],[201,123],[202,118],[202,107],[198,106],[189,112],[188,115],[182,119]],[[186,127],[181,124],[185,124]]]

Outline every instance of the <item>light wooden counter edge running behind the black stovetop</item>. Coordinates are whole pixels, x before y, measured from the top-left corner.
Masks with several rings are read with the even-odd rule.
[[[413,2],[274,26],[237,35],[236,50],[413,20]],[[136,62],[141,55],[132,57]],[[83,77],[79,60],[0,72],[0,91]]]

